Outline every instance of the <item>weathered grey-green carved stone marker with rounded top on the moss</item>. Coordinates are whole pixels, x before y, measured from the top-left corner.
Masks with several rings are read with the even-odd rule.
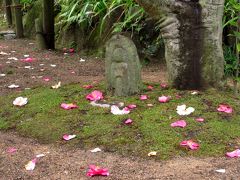
[[[106,45],[107,89],[115,96],[138,93],[142,86],[141,65],[133,41],[114,35]]]

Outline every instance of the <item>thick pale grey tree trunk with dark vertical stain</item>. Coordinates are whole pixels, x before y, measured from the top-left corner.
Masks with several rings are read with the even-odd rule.
[[[222,85],[224,0],[136,1],[160,22],[173,87],[200,89]]]

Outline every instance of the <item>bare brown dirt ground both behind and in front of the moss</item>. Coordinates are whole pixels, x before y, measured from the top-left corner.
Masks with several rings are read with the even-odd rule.
[[[104,61],[81,54],[63,54],[63,52],[37,51],[33,41],[0,40],[0,95],[25,88],[46,86],[62,81],[69,83],[92,83],[104,79]],[[23,59],[24,55],[35,58],[32,63],[20,60],[9,60],[10,57]],[[83,58],[86,61],[80,62]],[[30,66],[30,68],[26,68]],[[49,77],[50,81],[43,81]],[[164,82],[164,66],[152,64],[143,68],[143,80],[146,82]],[[7,86],[18,84],[20,88],[10,90]],[[16,147],[15,154],[6,153],[8,147]],[[95,147],[93,147],[95,148]],[[27,172],[24,165],[36,154],[50,152],[41,158],[33,172]],[[147,160],[149,159],[149,160]],[[54,145],[41,145],[13,133],[0,132],[0,180],[11,179],[87,179],[86,170],[89,164],[106,167],[110,176],[106,179],[240,179],[238,159],[226,158],[176,158],[170,161],[155,162],[136,157],[122,157],[100,152],[93,154],[80,149],[67,149]],[[226,169],[226,173],[215,172]],[[102,179],[102,178],[95,178]]]

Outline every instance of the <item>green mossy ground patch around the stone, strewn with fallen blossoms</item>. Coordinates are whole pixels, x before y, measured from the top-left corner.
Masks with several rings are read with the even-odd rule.
[[[104,92],[104,85],[96,89]],[[86,90],[79,85],[67,85],[60,89],[36,88],[23,91],[21,96],[29,98],[25,107],[14,107],[12,101],[19,94],[0,97],[0,130],[14,129],[21,135],[38,139],[42,143],[67,144],[83,149],[101,147],[105,151],[123,155],[146,157],[150,151],[157,151],[156,159],[169,159],[175,156],[224,156],[226,151],[234,150],[240,143],[239,99],[230,92],[208,90],[199,95],[189,91],[161,89],[146,91],[150,98],[140,101],[139,95],[117,98],[105,94],[109,102],[123,101],[137,104],[129,115],[114,116],[109,109],[93,107],[85,99]],[[180,99],[175,98],[180,94]],[[169,103],[161,104],[157,98],[170,95]],[[74,110],[63,110],[60,103],[75,102],[79,106]],[[151,103],[153,107],[147,107]],[[220,103],[228,103],[234,108],[233,114],[216,111]],[[186,104],[196,111],[181,117],[176,113],[177,105]],[[196,122],[196,117],[205,118],[205,122]],[[124,125],[124,119],[133,119],[130,126]],[[185,119],[188,126],[171,128],[170,124]],[[77,134],[77,138],[63,143],[63,134]],[[200,143],[200,149],[190,151],[179,146],[182,140],[193,139]]]

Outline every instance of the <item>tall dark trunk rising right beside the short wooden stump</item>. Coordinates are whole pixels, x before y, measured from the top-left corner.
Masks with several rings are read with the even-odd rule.
[[[43,0],[43,32],[48,49],[54,49],[54,0]]]

